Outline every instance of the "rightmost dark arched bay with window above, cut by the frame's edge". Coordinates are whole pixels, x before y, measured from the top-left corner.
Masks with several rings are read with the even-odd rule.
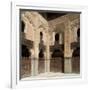
[[[80,28],[77,30],[77,45],[72,54],[72,72],[80,73]]]

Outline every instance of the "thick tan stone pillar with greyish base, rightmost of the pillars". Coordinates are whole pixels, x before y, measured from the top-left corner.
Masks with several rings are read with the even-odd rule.
[[[72,61],[71,61],[71,26],[70,22],[65,24],[64,32],[64,72],[72,72]]]

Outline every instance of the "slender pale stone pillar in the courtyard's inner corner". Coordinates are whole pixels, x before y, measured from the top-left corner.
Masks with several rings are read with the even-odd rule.
[[[45,72],[50,72],[50,46],[49,46],[49,34],[47,33],[46,42],[46,59],[45,59]]]

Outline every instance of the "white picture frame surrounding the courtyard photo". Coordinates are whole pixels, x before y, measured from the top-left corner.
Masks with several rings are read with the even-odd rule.
[[[32,9],[32,10],[54,10],[54,11],[72,11],[72,12],[81,12],[80,15],[80,76],[74,76],[75,78],[69,78],[66,76],[64,78],[58,79],[48,79],[48,80],[31,80],[31,81],[21,81],[19,79],[19,18],[20,18],[20,9]],[[76,5],[60,5],[60,4],[50,4],[50,3],[28,3],[28,2],[12,2],[11,3],[11,87],[20,88],[20,87],[35,87],[35,86],[46,86],[46,85],[55,85],[59,84],[80,84],[87,82],[87,55],[85,54],[85,38],[87,30],[87,7],[86,6],[76,6]],[[73,76],[71,76],[73,77]],[[59,85],[58,84],[58,85]]]

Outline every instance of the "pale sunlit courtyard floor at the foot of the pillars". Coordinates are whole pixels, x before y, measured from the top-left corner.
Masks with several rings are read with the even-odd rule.
[[[65,74],[65,73],[41,73],[37,76],[30,76],[22,78],[21,80],[37,80],[37,79],[56,79],[56,78],[80,78],[80,74],[71,73],[71,74]]]

